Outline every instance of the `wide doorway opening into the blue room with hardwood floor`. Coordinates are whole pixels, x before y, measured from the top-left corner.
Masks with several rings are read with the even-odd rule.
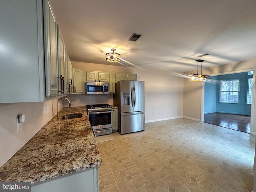
[[[204,83],[203,122],[251,133],[253,71],[211,78]]]

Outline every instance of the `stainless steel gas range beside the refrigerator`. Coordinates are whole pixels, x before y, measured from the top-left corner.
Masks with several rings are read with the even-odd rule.
[[[109,104],[86,105],[96,136],[112,134],[112,107]]]

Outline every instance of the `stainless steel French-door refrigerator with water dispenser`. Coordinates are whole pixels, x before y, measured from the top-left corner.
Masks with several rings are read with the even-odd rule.
[[[120,134],[145,130],[144,81],[119,81],[115,84],[114,105],[118,106]]]

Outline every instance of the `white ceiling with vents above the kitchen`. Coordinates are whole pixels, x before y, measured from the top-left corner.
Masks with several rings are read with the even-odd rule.
[[[256,0],[50,3],[71,61],[186,72],[197,59],[205,68],[256,58]],[[132,33],[143,36],[131,42]],[[111,48],[121,62],[106,61]]]

